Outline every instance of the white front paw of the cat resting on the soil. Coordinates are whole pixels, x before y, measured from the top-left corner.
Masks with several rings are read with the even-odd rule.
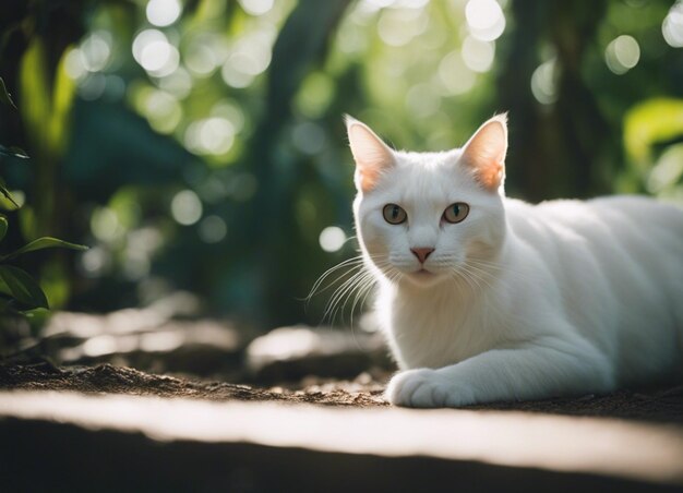
[[[384,395],[394,406],[412,408],[458,407],[475,402],[471,389],[454,384],[439,370],[427,368],[397,373]]]

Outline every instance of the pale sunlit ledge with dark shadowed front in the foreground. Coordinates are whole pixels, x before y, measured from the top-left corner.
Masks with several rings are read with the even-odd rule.
[[[130,449],[121,445],[129,443]],[[343,409],[14,390],[0,393],[0,444],[1,464],[12,466],[7,471],[53,469],[51,478],[82,486],[97,471],[89,481],[146,484],[149,478],[133,460],[146,461],[152,474],[180,474],[188,481],[208,474],[212,488],[247,474],[254,491],[269,490],[277,481],[283,490],[297,490],[298,482],[303,489],[314,478],[325,481],[320,486],[326,491],[349,491],[351,484],[366,490],[363,485],[378,484],[378,477],[385,481],[380,485],[426,481],[475,491],[540,484],[555,491],[570,485],[582,491],[683,486],[683,426],[515,411]],[[218,456],[209,459],[209,450]],[[93,454],[110,464],[93,465]],[[197,462],[200,456],[205,464]],[[115,464],[122,468],[119,476]],[[49,486],[40,483],[46,478],[50,476],[29,479]],[[182,478],[175,481],[180,484]],[[159,484],[166,479],[158,478]]]

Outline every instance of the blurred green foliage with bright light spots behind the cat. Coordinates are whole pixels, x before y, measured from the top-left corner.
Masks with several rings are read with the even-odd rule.
[[[357,255],[345,112],[435,151],[510,111],[508,195],[683,202],[681,1],[4,0],[0,34],[0,246],[89,246],[21,260],[52,309],[348,324],[304,301]]]

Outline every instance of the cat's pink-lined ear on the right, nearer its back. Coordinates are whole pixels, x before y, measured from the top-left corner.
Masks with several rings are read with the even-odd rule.
[[[477,181],[491,192],[505,179],[507,113],[496,115],[482,124],[463,147],[462,163],[475,171]]]

